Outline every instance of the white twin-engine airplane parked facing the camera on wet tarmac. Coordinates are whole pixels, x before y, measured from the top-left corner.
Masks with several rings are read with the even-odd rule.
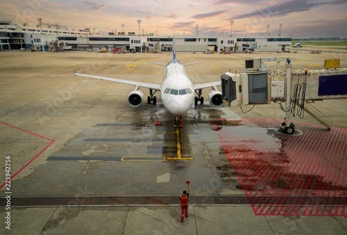
[[[85,76],[90,78],[98,78],[101,80],[109,80],[112,82],[120,82],[128,85],[135,85],[135,89],[133,92],[130,92],[128,95],[128,103],[132,107],[139,107],[142,105],[144,94],[139,90],[139,87],[144,87],[149,89],[149,94],[147,98],[147,103],[155,105],[157,103],[157,98],[154,96],[155,92],[160,92],[162,96],[162,103],[164,107],[176,116],[185,114],[195,103],[198,105],[198,101],[200,101],[201,105],[203,105],[203,96],[202,89],[211,87],[212,91],[209,94],[210,104],[213,107],[221,107],[223,105],[222,94],[217,89],[217,85],[221,85],[220,81],[216,82],[206,82],[201,84],[193,84],[192,81],[188,78],[187,73],[185,71],[185,66],[189,64],[197,64],[201,62],[192,62],[188,64],[181,64],[176,60],[176,40],[174,37],[174,46],[173,46],[173,55],[174,58],[168,64],[162,64],[157,62],[149,62],[152,64],[159,64],[166,66],[164,80],[162,85],[151,84],[146,82],[136,82],[131,80],[123,80],[117,78],[107,78],[101,76],[93,76],[88,74],[76,73],[74,71],[74,75]],[[154,91],[154,92],[153,92]],[[197,94],[197,97],[194,98],[194,92]]]

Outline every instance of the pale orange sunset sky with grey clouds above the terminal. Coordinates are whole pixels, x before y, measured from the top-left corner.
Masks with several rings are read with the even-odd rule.
[[[232,35],[237,37],[282,36],[347,37],[347,0],[12,0],[1,1],[0,20],[16,24],[43,22],[69,28],[95,28],[160,36]]]

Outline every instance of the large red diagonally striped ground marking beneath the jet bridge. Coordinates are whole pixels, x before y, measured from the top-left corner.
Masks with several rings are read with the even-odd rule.
[[[322,125],[295,122],[298,129],[306,127],[299,137],[256,129],[250,136],[249,132],[235,132],[224,121],[228,122],[212,125],[254,214],[347,217],[346,202],[330,204],[319,198],[346,196],[347,129],[328,132]],[[278,119],[243,119],[240,124],[273,129],[280,123]],[[273,206],[282,200],[288,204]]]

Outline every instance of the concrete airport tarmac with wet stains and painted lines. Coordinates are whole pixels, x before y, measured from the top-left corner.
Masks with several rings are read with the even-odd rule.
[[[186,67],[193,83],[243,72],[253,57],[278,57],[281,71],[286,58],[293,70],[323,69],[334,58],[347,67],[339,49],[305,50],[177,58],[203,61]],[[305,114],[292,119],[302,134],[287,136],[278,132],[279,105],[215,108],[204,89],[205,103],[177,128],[160,94],[157,105],[130,107],[135,87],[74,76],[161,84],[164,67],[146,61],[171,57],[0,52],[0,233],[347,234],[346,100],[314,103],[334,121],[330,131]],[[187,180],[189,217],[180,223]]]

